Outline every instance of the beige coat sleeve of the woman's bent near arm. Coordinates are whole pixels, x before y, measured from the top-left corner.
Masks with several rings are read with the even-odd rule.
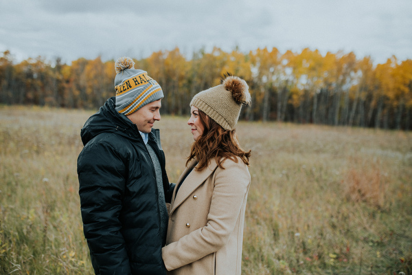
[[[175,270],[218,251],[229,241],[247,196],[250,174],[243,163],[224,163],[214,181],[207,224],[162,249],[167,270]]]

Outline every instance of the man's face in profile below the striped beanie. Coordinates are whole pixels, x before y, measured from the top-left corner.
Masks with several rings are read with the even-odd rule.
[[[129,120],[136,124],[137,129],[143,133],[152,131],[155,121],[160,120],[161,99],[150,102],[131,115],[126,115]]]

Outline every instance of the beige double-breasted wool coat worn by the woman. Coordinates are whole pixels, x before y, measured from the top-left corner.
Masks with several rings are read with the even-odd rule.
[[[212,159],[201,171],[192,161],[179,178],[170,206],[162,257],[168,274],[241,274],[244,212],[251,183],[238,158],[220,168]],[[187,177],[182,179],[189,173]]]

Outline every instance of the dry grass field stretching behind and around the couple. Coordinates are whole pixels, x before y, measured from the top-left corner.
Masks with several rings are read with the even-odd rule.
[[[0,107],[0,274],[93,274],[76,159],[93,111]],[[170,181],[192,135],[163,116]],[[243,272],[412,274],[412,133],[240,122],[251,148]]]

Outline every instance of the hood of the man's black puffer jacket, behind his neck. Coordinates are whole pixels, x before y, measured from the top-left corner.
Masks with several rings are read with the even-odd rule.
[[[108,98],[99,111],[84,123],[80,131],[83,145],[100,135],[100,133],[117,133],[127,138],[140,140],[136,126],[127,119],[126,115],[115,110],[115,97]]]

